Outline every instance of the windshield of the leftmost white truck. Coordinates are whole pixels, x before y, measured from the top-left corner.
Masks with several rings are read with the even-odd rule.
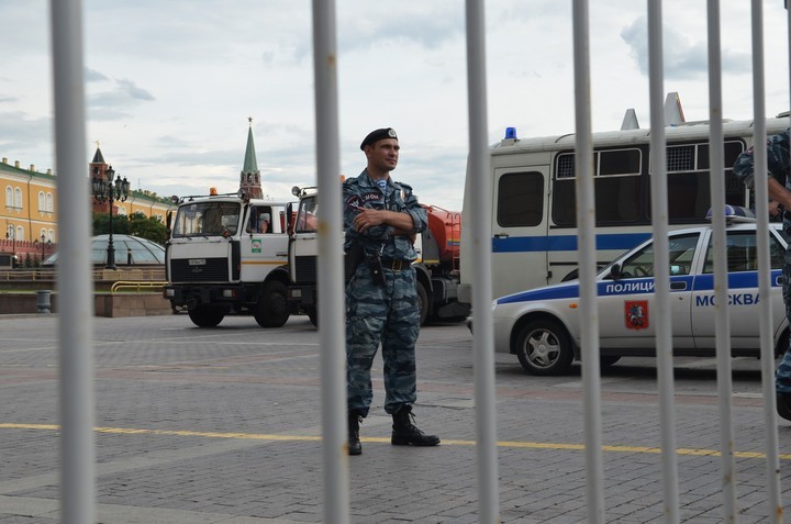
[[[238,202],[187,203],[178,210],[172,236],[233,236],[241,210]]]

